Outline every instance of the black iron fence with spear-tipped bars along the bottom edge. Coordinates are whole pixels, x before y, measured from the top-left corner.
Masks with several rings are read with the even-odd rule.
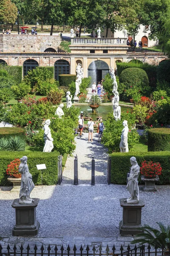
[[[60,247],[60,248],[59,248]],[[37,245],[35,244],[34,248],[30,248],[29,244],[27,245],[26,248],[23,247],[23,244],[21,244],[21,246],[18,246],[16,244],[14,244],[14,246],[8,246],[6,248],[3,248],[0,244],[0,256],[6,255],[6,256],[29,256],[29,255],[48,255],[48,256],[162,256],[162,255],[167,255],[170,256],[170,246],[167,248],[167,250],[164,249],[164,246],[162,246],[162,248],[158,248],[158,247],[154,247],[151,248],[150,245],[142,245],[137,247],[135,246],[131,246],[128,245],[127,247],[115,247],[113,245],[113,247],[107,247],[102,248],[102,246],[100,245],[99,247],[76,247],[76,245],[74,245],[74,247],[71,249],[70,246],[68,245],[68,247],[64,248],[63,245],[62,246],[58,246],[57,245],[54,247],[54,245],[48,245],[47,249],[45,250],[45,248],[43,247],[43,245],[41,247],[39,247],[40,249],[38,250]],[[53,248],[53,250],[51,249]]]

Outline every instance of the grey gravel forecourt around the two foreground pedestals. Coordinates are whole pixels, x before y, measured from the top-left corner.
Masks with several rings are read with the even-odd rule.
[[[142,224],[154,227],[157,227],[156,221],[166,225],[170,222],[170,186],[157,188],[158,192],[140,190],[140,198],[145,202]],[[119,221],[122,219],[119,198],[128,197],[129,193],[123,185],[57,185],[43,186],[43,189],[36,186],[31,196],[40,198],[37,206],[38,237],[115,237],[119,236]],[[18,198],[17,193],[0,187],[1,237],[11,236],[15,224],[15,210],[11,204],[15,198]]]

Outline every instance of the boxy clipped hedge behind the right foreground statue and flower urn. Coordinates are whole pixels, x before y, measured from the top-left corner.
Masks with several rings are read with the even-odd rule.
[[[111,182],[115,184],[126,184],[127,172],[129,172],[130,157],[136,157],[141,166],[144,160],[159,162],[162,167],[162,174],[159,176],[159,184],[170,184],[170,151],[158,152],[129,152],[111,154]],[[139,177],[139,183],[141,179]]]

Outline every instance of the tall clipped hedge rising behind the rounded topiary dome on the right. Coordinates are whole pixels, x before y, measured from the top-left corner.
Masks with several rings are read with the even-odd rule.
[[[117,76],[120,76],[123,70],[125,70],[128,67],[138,67],[144,70],[147,73],[148,79],[149,79],[149,85],[152,87],[152,90],[156,88],[156,71],[157,66],[150,65],[150,64],[143,64],[143,63],[136,63],[133,61],[130,62],[116,62],[117,66]]]

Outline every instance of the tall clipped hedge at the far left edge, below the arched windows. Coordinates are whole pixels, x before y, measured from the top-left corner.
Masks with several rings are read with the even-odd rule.
[[[7,70],[9,75],[14,79],[14,83],[20,84],[23,80],[23,67],[22,66],[6,66],[0,65],[0,69]]]

